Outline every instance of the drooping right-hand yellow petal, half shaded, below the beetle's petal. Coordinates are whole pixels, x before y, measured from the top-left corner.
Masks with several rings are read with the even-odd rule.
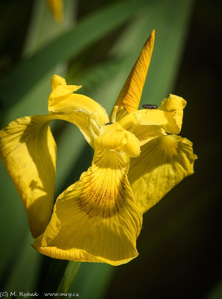
[[[143,213],[194,170],[192,142],[176,135],[155,138],[130,161],[128,178],[136,205]]]

